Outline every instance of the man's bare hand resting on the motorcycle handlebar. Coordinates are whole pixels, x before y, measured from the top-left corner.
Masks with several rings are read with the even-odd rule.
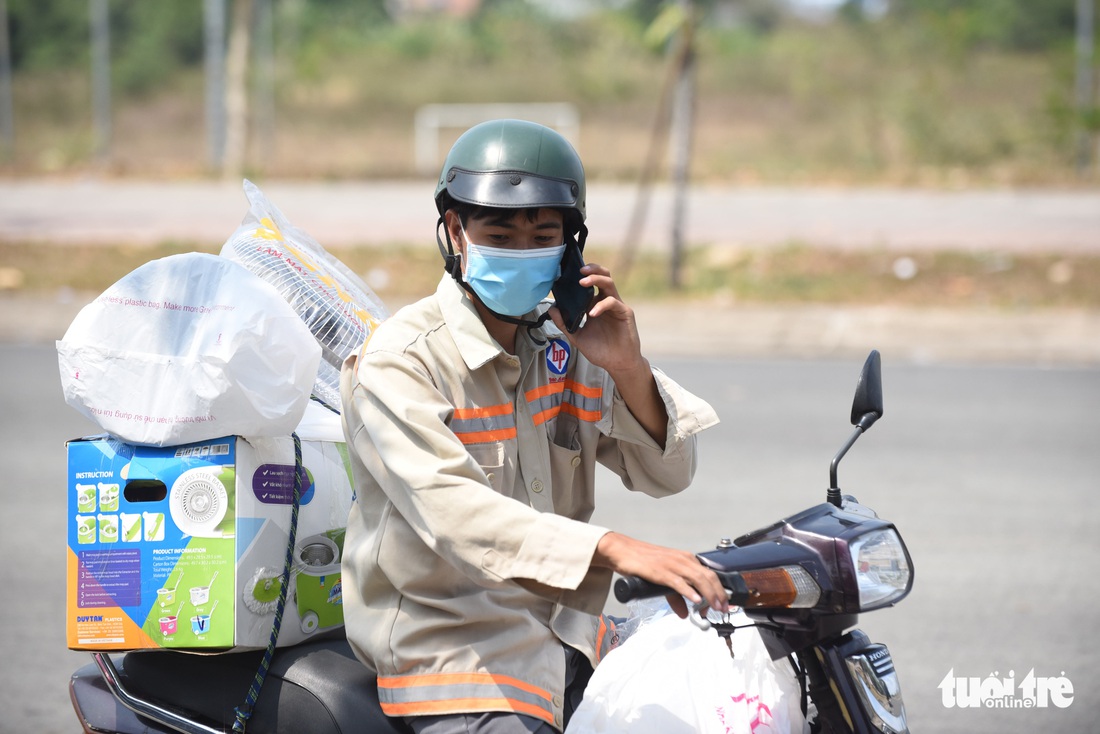
[[[717,574],[700,563],[695,554],[654,546],[612,532],[600,539],[592,565],[671,589],[675,593],[667,594],[666,599],[680,618],[689,614],[684,598],[696,606],[705,600],[714,611],[729,612],[726,590],[722,588]]]

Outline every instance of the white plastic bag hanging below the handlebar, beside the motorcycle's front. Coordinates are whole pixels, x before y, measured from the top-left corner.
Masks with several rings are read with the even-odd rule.
[[[596,667],[566,734],[801,734],[790,665],[771,660],[756,629],[730,639],[733,658],[714,631],[674,614],[641,624]]]

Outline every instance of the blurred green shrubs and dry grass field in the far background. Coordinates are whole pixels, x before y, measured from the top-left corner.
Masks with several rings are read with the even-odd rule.
[[[485,0],[453,19],[395,18],[386,7],[402,3],[382,0],[270,1],[271,31],[253,43],[251,177],[408,177],[420,106],[542,101],[579,108],[593,178],[639,175],[670,3],[594,1],[603,10],[563,19],[543,10],[553,3]],[[87,0],[7,3],[15,146],[0,175],[211,174],[202,2],[111,1],[106,161],[95,155]],[[1072,0],[892,0],[882,17],[851,0],[829,22],[779,0],[696,4],[696,180],[1096,183],[1076,168],[1100,116],[1075,108]]]

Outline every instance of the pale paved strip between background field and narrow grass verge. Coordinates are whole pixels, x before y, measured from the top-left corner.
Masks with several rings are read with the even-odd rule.
[[[431,182],[263,184],[289,220],[326,247],[430,240]],[[588,188],[592,241],[618,247],[636,190]],[[641,244],[666,247],[671,196],[653,191]],[[0,240],[221,243],[248,201],[204,182],[0,180]],[[700,186],[688,201],[693,244],[1100,252],[1100,190],[905,190]]]

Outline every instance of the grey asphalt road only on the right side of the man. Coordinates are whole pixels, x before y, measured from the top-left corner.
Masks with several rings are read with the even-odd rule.
[[[658,360],[723,423],[689,493],[600,497],[595,522],[702,549],[824,500],[857,361]],[[914,732],[1097,731],[1100,370],[899,364],[840,486],[898,524],[913,593],[861,626],[887,643]],[[1089,569],[1086,571],[1086,569]],[[1085,571],[1084,573],[1081,571]],[[1065,710],[946,709],[944,677],[1064,675]]]

